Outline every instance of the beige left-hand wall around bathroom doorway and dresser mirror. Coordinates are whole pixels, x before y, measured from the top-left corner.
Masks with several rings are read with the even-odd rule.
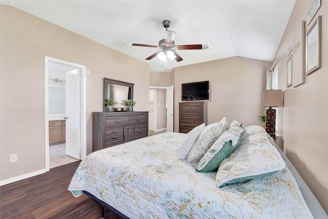
[[[1,176],[45,169],[44,57],[85,65],[87,154],[103,78],[134,83],[136,111],[149,110],[149,65],[10,6],[1,5]],[[18,162],[9,163],[17,153]]]

